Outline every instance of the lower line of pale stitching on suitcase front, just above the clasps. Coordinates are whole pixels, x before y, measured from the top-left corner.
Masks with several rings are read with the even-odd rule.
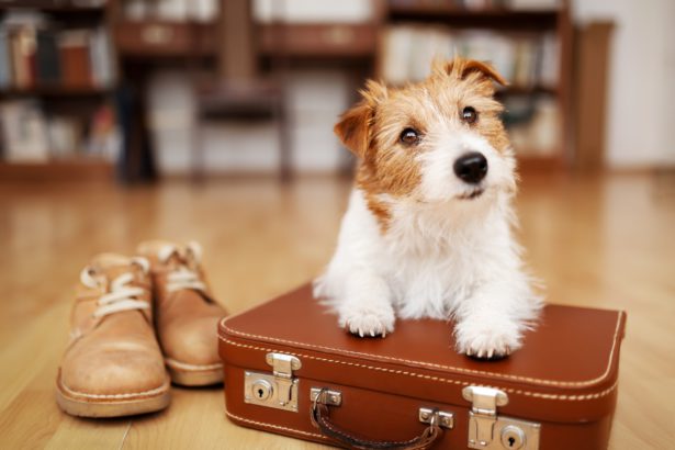
[[[218,336],[218,339],[224,341],[225,344],[229,344],[229,345],[235,346],[235,347],[249,348],[249,349],[252,349],[252,350],[260,350],[260,351],[267,351],[267,352],[270,352],[270,351],[279,352],[279,350],[271,349],[271,348],[256,347],[256,346],[251,346],[251,345],[247,345],[247,344],[235,342],[234,340],[229,340],[229,339],[223,338],[222,336]],[[439,376],[426,375],[426,374],[423,374],[423,373],[408,372],[408,371],[404,371],[404,370],[394,370],[394,369],[387,369],[387,368],[379,368],[379,367],[374,367],[374,365],[360,364],[358,362],[339,361],[339,360],[327,359],[327,358],[322,358],[322,357],[313,357],[311,355],[303,355],[303,353],[290,353],[290,352],[285,352],[285,353],[286,355],[296,356],[296,357],[307,358],[307,359],[314,359],[314,360],[317,360],[317,361],[333,362],[333,363],[345,364],[345,365],[353,365],[353,367],[375,370],[375,371],[379,371],[379,372],[389,372],[389,373],[396,373],[396,374],[402,374],[402,375],[421,378],[421,379],[426,379],[426,380],[440,381],[440,382],[448,383],[448,384],[459,384],[459,385],[463,385],[463,386],[474,385],[474,383],[470,383],[470,382],[465,382],[465,381],[442,379],[442,378],[439,378]],[[619,381],[617,380],[610,387],[608,387],[608,389],[606,389],[604,391],[596,392],[596,393],[593,393],[593,394],[580,394],[580,395],[545,394],[545,393],[541,393],[541,392],[530,392],[530,391],[515,390],[515,389],[511,389],[511,387],[500,387],[500,386],[492,386],[492,385],[487,385],[487,387],[496,387],[496,389],[499,389],[502,391],[509,392],[511,394],[526,395],[526,396],[537,397],[537,398],[560,400],[560,401],[566,401],[566,402],[581,402],[581,401],[586,401],[586,400],[595,400],[595,398],[604,397],[604,396],[608,395],[609,393],[611,393],[617,387],[618,384],[619,384]]]

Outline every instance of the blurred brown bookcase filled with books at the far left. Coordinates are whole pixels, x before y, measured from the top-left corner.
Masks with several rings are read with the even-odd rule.
[[[0,2],[0,179],[114,179],[122,136],[105,2]]]

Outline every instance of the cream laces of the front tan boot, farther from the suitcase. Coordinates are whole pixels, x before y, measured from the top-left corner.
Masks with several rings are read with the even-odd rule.
[[[143,271],[147,273],[149,262],[145,258],[132,258],[132,263],[140,266]],[[88,288],[99,288],[104,279],[97,277],[97,271],[92,267],[86,267],[80,273],[80,281]],[[131,285],[134,281],[134,273],[126,272],[116,277],[109,286],[109,292],[101,295],[97,301],[99,307],[94,311],[93,317],[103,317],[110,314],[122,311],[147,310],[150,305],[147,302],[138,300],[138,296],[145,294],[145,290],[139,286]]]

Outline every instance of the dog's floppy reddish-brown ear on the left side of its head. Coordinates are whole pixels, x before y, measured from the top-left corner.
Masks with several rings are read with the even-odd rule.
[[[375,110],[378,103],[386,98],[386,88],[369,80],[361,95],[363,99],[340,116],[340,121],[333,131],[347,148],[356,156],[363,158],[370,147]]]

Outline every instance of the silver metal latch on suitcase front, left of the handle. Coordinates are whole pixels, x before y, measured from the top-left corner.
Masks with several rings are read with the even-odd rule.
[[[293,371],[302,367],[291,355],[269,352],[265,361],[272,367],[272,374],[245,372],[244,401],[255,405],[297,413],[297,383]]]

